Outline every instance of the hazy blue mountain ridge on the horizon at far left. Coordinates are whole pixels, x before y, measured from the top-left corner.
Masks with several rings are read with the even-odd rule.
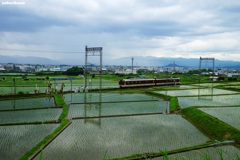
[[[32,56],[6,56],[0,55],[0,63],[15,63],[15,64],[60,64],[60,62],[44,58]]]

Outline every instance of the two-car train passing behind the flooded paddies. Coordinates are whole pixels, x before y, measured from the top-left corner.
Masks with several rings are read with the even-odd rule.
[[[180,78],[153,78],[153,79],[122,79],[119,81],[120,88],[180,85]]]

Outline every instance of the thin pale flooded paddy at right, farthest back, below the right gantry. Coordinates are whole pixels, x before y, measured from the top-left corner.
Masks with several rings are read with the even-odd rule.
[[[237,94],[239,92],[228,91],[224,89],[216,89],[216,88],[204,88],[204,89],[156,91],[156,93],[165,94],[169,96],[183,97],[183,96]]]

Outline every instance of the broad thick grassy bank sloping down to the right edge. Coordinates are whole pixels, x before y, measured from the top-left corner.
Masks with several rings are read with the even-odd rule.
[[[212,140],[235,140],[236,143],[240,141],[239,130],[196,107],[185,108],[181,114]]]

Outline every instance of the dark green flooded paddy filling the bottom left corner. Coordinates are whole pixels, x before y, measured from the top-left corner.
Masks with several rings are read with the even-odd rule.
[[[58,124],[0,126],[0,159],[19,159],[57,126]]]

